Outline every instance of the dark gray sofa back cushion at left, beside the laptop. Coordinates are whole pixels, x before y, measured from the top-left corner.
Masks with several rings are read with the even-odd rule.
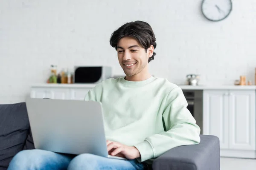
[[[0,105],[0,169],[23,150],[29,127],[25,102]]]

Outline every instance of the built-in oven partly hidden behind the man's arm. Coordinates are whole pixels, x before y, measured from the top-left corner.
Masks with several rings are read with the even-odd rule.
[[[183,90],[183,94],[188,102],[188,110],[196,120],[203,134],[203,91],[202,90]]]

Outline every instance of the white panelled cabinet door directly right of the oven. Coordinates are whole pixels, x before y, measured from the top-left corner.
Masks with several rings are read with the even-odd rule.
[[[204,91],[203,134],[218,136],[220,148],[227,149],[228,95],[227,91]]]

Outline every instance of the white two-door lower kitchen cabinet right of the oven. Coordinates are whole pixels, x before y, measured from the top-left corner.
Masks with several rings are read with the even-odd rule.
[[[221,156],[255,158],[255,90],[203,93],[203,134],[219,137]]]

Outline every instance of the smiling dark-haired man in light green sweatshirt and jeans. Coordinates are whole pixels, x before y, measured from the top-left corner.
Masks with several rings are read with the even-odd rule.
[[[157,45],[151,26],[125,23],[113,32],[110,44],[126,76],[97,84],[84,100],[102,103],[108,152],[127,160],[24,150],[12,159],[9,170],[143,170],[173,147],[200,142],[200,128],[182,90],[148,71]]]

